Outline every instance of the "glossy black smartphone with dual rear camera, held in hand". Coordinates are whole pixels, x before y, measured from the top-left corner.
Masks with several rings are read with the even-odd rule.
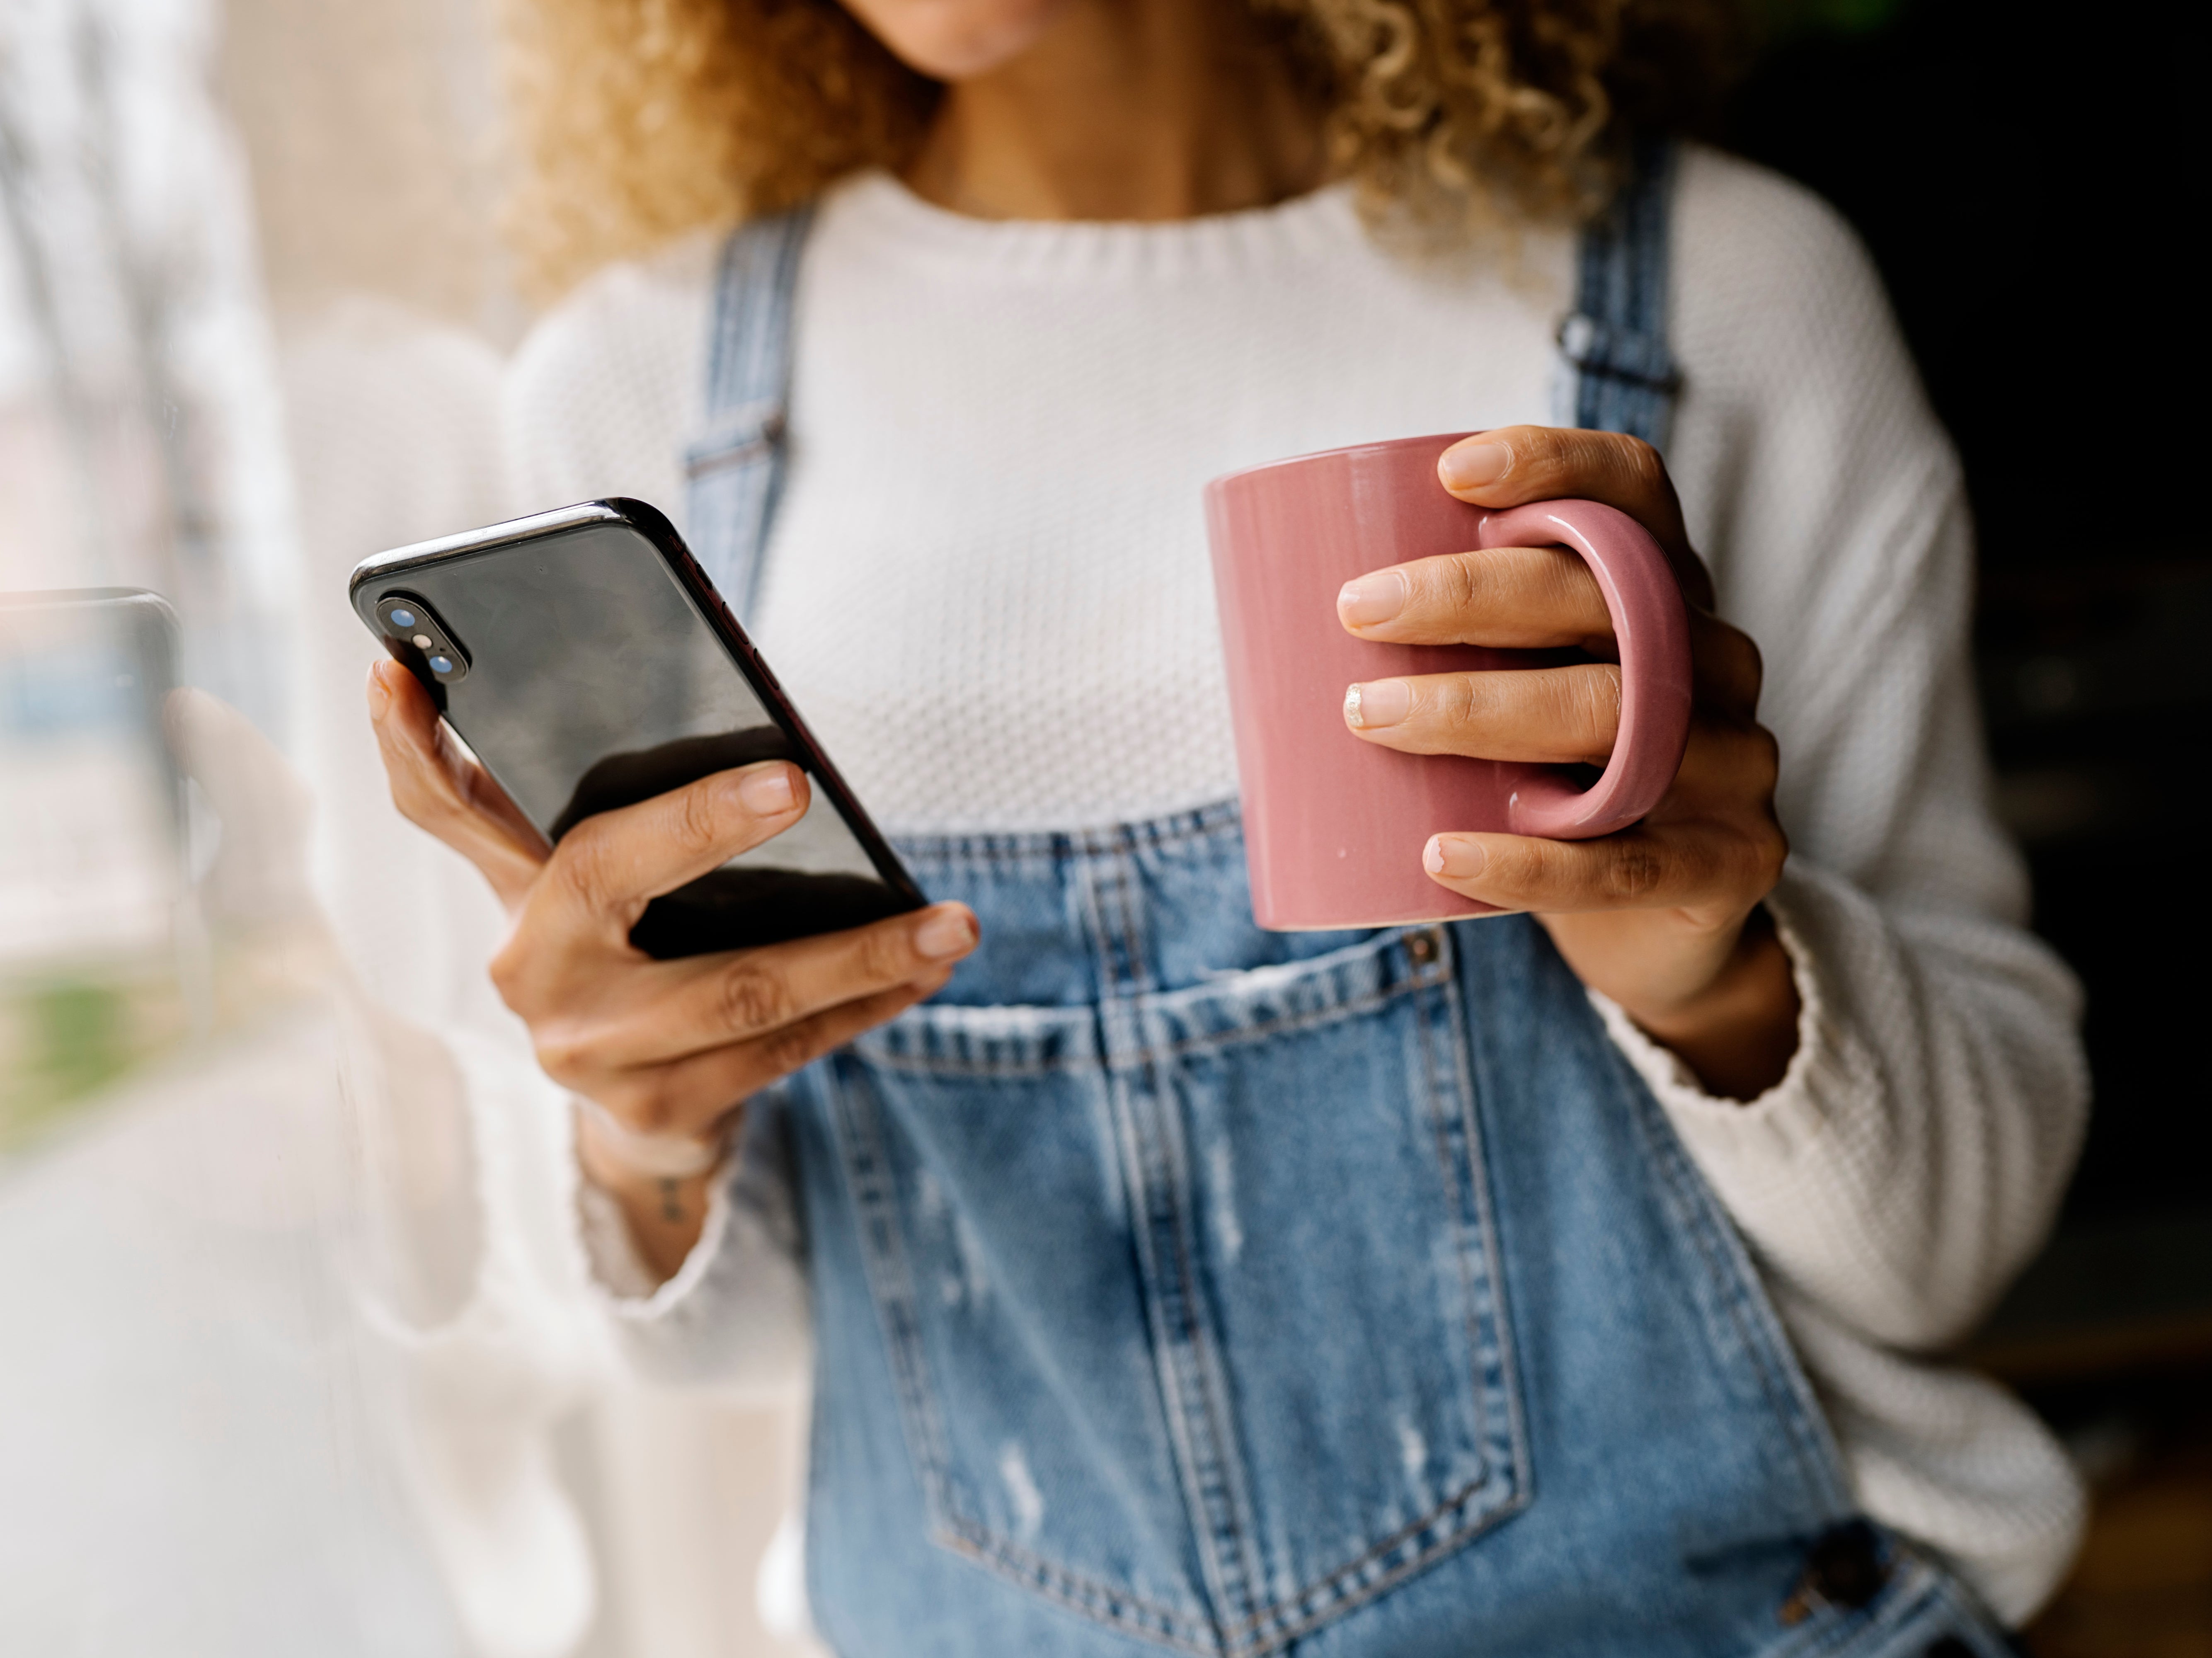
[[[646,502],[588,500],[398,547],[363,560],[347,593],[546,841],[732,766],[807,773],[799,823],[646,905],[630,930],[646,954],[781,943],[927,903]]]

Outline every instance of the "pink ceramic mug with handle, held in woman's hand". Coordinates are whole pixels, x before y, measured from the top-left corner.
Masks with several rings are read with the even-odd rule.
[[[1396,438],[1245,467],[1206,485],[1206,529],[1237,722],[1252,912],[1276,932],[1491,914],[1422,870],[1438,830],[1577,841],[1644,817],[1690,739],[1690,626],[1666,553],[1595,500],[1511,511],[1444,494],[1436,458],[1460,434]],[[1365,680],[1535,666],[1531,651],[1374,644],[1336,620],[1354,576],[1473,547],[1568,547],[1606,595],[1621,653],[1621,730],[1604,775],[1400,755],[1345,726]]]

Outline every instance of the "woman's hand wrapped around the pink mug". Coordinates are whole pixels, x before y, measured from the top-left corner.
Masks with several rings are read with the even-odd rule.
[[[1613,432],[1502,427],[1455,443],[1438,478],[1460,500],[1601,500],[1666,549],[1690,609],[1694,704],[1672,788],[1637,826],[1595,841],[1433,835],[1431,879],[1531,910],[1582,983],[1672,1047],[1708,1089],[1747,1100],[1796,1051],[1790,958],[1761,910],[1787,841],[1774,817],[1776,746],[1756,722],[1759,646],[1717,618],[1659,454]],[[1436,673],[1349,686],[1345,722],[1409,755],[1588,761],[1613,753],[1621,711],[1613,620],[1562,547],[1493,547],[1371,571],[1336,602],[1345,629],[1391,644],[1582,646],[1599,662]],[[1610,657],[1610,660],[1606,660]]]

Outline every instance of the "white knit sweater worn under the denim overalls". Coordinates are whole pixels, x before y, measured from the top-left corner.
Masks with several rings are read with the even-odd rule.
[[[524,505],[681,518],[710,255],[611,270],[524,345]],[[1500,266],[1411,266],[1345,190],[1152,226],[984,224],[880,175],[836,190],[801,272],[757,633],[876,817],[1077,828],[1234,795],[1199,485],[1548,418],[1571,241]],[[1767,173],[1686,157],[1670,330],[1668,463],[1767,662],[1794,846],[1772,903],[1805,1014],[1783,1082],[1736,1105],[1593,1001],[1750,1240],[1867,1512],[2020,1620],[2079,1490],[2017,1401],[1940,1355],[2039,1244],[2088,1087],[2077,989],[2024,932],[1989,815],[1958,463],[1865,252]],[[591,1231],[619,1291],[622,1240]],[[650,1370],[803,1353],[768,1328],[799,1317],[779,1271],[726,1202],[677,1279],[608,1315]]]

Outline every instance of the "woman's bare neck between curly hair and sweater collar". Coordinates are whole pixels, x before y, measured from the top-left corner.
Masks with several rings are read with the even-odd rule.
[[[907,184],[978,219],[1188,219],[1321,175],[1321,124],[1250,4],[1077,0],[947,89]]]

